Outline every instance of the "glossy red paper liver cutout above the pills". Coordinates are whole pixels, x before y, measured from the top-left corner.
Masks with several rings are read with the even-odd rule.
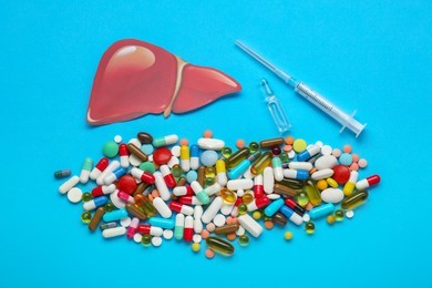
[[[240,89],[220,71],[187,64],[147,42],[121,40],[100,61],[86,121],[102,125],[164,111],[168,116],[171,110],[195,110]]]

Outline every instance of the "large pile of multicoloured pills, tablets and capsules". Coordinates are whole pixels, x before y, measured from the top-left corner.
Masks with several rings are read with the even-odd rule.
[[[174,237],[191,243],[195,253],[205,239],[205,256],[213,258],[233,255],[232,241],[247,246],[264,227],[291,222],[312,234],[321,217],[328,224],[351,218],[367,189],[380,182],[378,175],[359,179],[367,161],[349,145],[340,151],[288,136],[248,146],[238,140],[236,146],[233,153],[210,131],[191,146],[177,135],[153,138],[141,132],[127,144],[117,135],[103,145],[104,157],[94,166],[85,158],[80,175],[59,192],[83,203],[82,222],[91,232],[99,227],[104,238],[126,235],[157,247]],[[54,173],[70,175],[70,169]],[[93,182],[96,186],[83,193],[80,187]],[[292,233],[284,237],[290,240]]]

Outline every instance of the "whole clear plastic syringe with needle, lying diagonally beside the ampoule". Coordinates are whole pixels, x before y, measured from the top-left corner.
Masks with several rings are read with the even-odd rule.
[[[286,72],[281,71],[270,62],[268,62],[265,58],[259,55],[257,52],[245,45],[241,41],[236,40],[236,45],[238,45],[243,51],[255,58],[259,63],[271,70],[276,75],[278,75],[280,79],[284,80],[285,83],[289,84],[294,88],[294,90],[302,95],[305,99],[307,99],[310,103],[319,107],[321,111],[326,112],[326,114],[330,115],[332,119],[338,121],[340,124],[342,124],[342,128],[339,131],[342,132],[346,127],[351,130],[356,137],[360,135],[360,133],[363,131],[367,124],[361,124],[358,122],[353,116],[357,113],[357,110],[349,115],[344,111],[340,110],[338,106],[336,106],[333,103],[328,101],[325,96],[318,94],[313,90],[311,90],[308,85],[305,83],[297,81],[291,75],[287,74]]]

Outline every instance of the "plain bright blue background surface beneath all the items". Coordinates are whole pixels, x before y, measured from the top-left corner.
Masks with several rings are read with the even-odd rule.
[[[431,287],[429,198],[431,1],[2,1],[0,287]],[[243,91],[186,115],[89,127],[93,76],[113,42],[135,38],[238,80]],[[359,140],[234,47],[241,39],[368,126]],[[101,156],[102,144],[146,131],[191,141],[204,130],[234,146],[277,135],[261,76],[292,135],[351,144],[379,187],[352,220],[317,232],[265,230],[233,258],[207,260],[176,240],[143,248],[104,240],[58,193],[52,173]],[[415,175],[413,177],[412,175]],[[112,267],[112,268],[103,268]],[[179,277],[178,275],[183,275]]]

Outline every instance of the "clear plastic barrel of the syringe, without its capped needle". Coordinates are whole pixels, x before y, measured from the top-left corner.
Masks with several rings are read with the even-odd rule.
[[[325,96],[315,92],[305,83],[301,82],[297,83],[296,92],[302,95],[304,97],[306,97],[310,103],[319,107],[326,114],[328,114],[329,116],[338,121],[343,127],[347,126],[349,130],[356,133],[357,136],[364,128],[366,125],[354,120],[352,115],[349,115],[342,110],[340,110],[338,106],[336,106],[333,103],[328,101]]]

